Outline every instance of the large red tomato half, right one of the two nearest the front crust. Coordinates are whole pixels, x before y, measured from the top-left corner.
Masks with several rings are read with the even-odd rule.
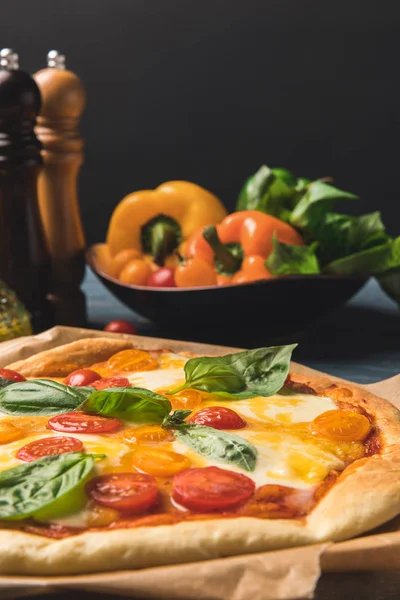
[[[223,511],[248,500],[255,487],[246,475],[227,469],[187,469],[174,475],[172,497],[190,510]]]

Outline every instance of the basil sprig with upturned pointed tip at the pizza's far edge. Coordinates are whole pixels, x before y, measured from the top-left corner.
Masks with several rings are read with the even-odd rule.
[[[272,396],[289,373],[290,358],[297,344],[246,350],[226,356],[192,358],[185,364],[185,388],[232,399]]]

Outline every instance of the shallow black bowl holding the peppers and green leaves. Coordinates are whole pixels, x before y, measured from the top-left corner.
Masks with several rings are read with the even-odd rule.
[[[86,260],[104,285],[129,308],[177,335],[245,328],[263,330],[271,340],[297,333],[344,304],[366,282],[365,277],[308,275],[190,289],[129,285],[96,266],[99,246],[89,248]]]

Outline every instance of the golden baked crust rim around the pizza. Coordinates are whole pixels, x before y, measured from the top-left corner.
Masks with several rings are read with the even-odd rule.
[[[28,376],[56,376],[50,371],[55,365],[57,374],[66,375],[62,363],[68,360],[71,364],[71,356],[74,365],[89,366],[126,347],[132,344],[125,340],[80,340],[13,363],[9,368]],[[375,418],[382,444],[380,454],[356,460],[347,467],[307,517],[215,518],[90,531],[64,539],[3,529],[0,573],[66,575],[137,569],[341,541],[399,514],[400,412],[386,400],[355,385],[294,373],[291,380],[310,386],[317,395],[365,408]]]

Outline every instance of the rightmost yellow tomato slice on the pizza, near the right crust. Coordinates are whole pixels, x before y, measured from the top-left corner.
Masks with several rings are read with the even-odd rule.
[[[351,410],[328,410],[311,423],[313,433],[341,442],[362,441],[370,429],[367,417]]]

